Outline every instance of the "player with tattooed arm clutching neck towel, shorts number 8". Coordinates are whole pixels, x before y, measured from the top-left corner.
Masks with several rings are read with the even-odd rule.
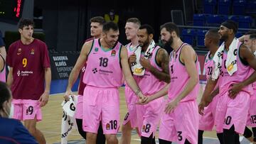
[[[139,37],[139,46],[142,47],[140,64],[145,69],[143,76],[137,76],[137,82],[143,94],[153,95],[162,89],[166,83],[170,82],[169,55],[164,48],[153,45],[154,50],[149,54],[149,58],[144,58],[147,55],[146,50],[154,42],[154,29],[145,24],[139,28],[137,35]],[[129,61],[131,63],[135,62]],[[156,99],[151,101],[150,104],[137,105],[139,134],[142,138],[142,144],[155,143],[154,136],[159,125],[163,102],[164,99]]]

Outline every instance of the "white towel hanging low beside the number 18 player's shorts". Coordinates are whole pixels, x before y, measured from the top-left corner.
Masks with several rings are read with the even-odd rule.
[[[63,118],[61,122],[61,143],[68,143],[68,135],[75,128],[78,130],[78,126],[75,121],[75,106],[78,104],[78,96],[70,96],[69,101],[63,101]]]

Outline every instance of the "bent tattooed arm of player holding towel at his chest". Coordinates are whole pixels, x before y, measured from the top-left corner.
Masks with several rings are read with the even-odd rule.
[[[162,71],[157,70],[155,67],[150,65],[149,60],[142,57],[140,60],[141,65],[149,70],[151,74],[154,74],[156,78],[166,83],[170,82],[170,75],[169,75],[169,55],[163,48],[160,48],[156,53],[156,62],[161,67]]]

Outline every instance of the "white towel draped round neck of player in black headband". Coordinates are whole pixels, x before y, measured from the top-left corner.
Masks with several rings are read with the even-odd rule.
[[[227,67],[227,71],[228,71],[228,74],[230,74],[230,76],[238,70],[237,55],[238,55],[239,44],[240,44],[240,41],[237,38],[234,38],[228,50],[228,56],[227,56],[227,61],[225,62],[225,67]],[[224,48],[225,48],[225,43],[223,42],[220,45],[220,48],[218,48],[217,52],[215,52],[215,55],[213,57],[213,61],[214,61],[214,70],[212,74],[213,80],[218,79],[220,75]]]

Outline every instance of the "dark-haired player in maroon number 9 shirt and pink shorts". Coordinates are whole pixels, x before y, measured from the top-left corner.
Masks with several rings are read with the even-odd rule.
[[[21,40],[12,43],[8,50],[7,84],[14,98],[14,118],[24,121],[38,143],[46,143],[36,122],[42,120],[41,107],[46,106],[49,99],[50,59],[46,43],[33,38],[33,26],[29,19],[22,19],[18,25]]]

